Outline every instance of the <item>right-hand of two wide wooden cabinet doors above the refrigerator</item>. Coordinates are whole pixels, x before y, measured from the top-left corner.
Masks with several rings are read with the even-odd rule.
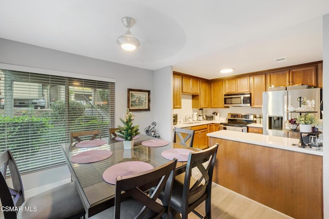
[[[290,85],[317,86],[316,66],[290,70]]]

